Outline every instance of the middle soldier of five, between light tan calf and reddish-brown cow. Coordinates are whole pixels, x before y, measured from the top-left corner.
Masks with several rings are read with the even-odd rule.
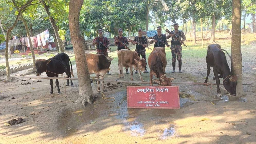
[[[142,29],[138,29],[138,34],[139,34],[139,35],[138,35],[137,37],[135,37],[133,41],[137,41],[137,42],[142,43],[142,44],[147,44],[147,38],[142,35]],[[136,44],[136,43],[133,42],[133,45],[135,45],[135,44]],[[140,55],[141,55],[141,57],[146,60],[146,53],[145,53],[145,52],[146,52],[146,49],[145,49],[145,46],[136,44],[136,49],[135,49],[135,51],[138,53],[138,56],[139,56],[139,57],[140,57]],[[148,73],[148,71],[147,71],[147,61],[146,61],[145,70],[146,70],[146,71],[144,71],[144,72],[145,72],[145,73]],[[135,71],[135,74],[138,74],[138,71],[137,71],[137,70]]]

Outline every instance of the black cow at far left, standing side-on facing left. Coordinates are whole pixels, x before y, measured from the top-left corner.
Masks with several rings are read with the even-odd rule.
[[[71,69],[69,67],[69,62],[71,65]],[[71,78],[73,75],[72,64],[69,59],[69,56],[66,53],[58,53],[56,56],[49,58],[48,60],[45,59],[38,59],[36,61],[36,75],[39,76],[41,73],[46,72],[48,77],[58,77],[57,74],[66,73],[67,77]],[[70,69],[70,70],[69,70]],[[55,73],[55,74],[54,74]],[[53,93],[53,86],[52,86],[52,79],[50,79],[51,91],[50,94]],[[60,94],[59,89],[59,80],[56,79],[56,85],[58,87],[58,94]],[[70,80],[71,87],[73,87],[73,82]],[[67,80],[67,86],[69,85],[69,80]]]

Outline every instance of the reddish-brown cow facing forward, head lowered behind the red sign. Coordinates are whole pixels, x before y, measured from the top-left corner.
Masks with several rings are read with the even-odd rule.
[[[153,75],[159,80],[153,79],[160,86],[171,86],[171,81],[174,78],[167,78],[164,74],[166,67],[166,56],[164,48],[154,48],[148,57],[148,66],[150,68],[150,86],[153,86]]]

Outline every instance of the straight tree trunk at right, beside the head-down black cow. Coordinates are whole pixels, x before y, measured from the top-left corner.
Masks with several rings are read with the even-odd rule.
[[[237,76],[236,94],[242,96],[241,1],[232,0],[231,73]]]

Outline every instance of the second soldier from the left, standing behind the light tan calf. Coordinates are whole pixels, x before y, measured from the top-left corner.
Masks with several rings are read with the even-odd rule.
[[[123,36],[123,30],[118,29],[118,37],[115,39],[115,46],[117,46],[117,52],[121,49],[129,49],[127,46],[129,45],[128,39]],[[124,43],[126,46],[123,46],[122,43]],[[128,68],[125,68],[126,74],[129,74]]]

